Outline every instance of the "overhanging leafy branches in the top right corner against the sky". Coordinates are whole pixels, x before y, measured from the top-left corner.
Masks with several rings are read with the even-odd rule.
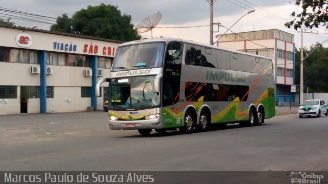
[[[320,24],[328,29],[328,2],[324,0],[296,0],[295,5],[302,6],[302,12],[297,14],[295,11],[291,16],[298,19],[294,19],[291,22],[285,23],[285,26],[291,28],[294,25],[294,29],[297,30],[304,24],[307,28],[318,28]]]

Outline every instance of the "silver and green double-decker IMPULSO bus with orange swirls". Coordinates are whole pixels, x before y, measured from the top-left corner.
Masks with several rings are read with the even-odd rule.
[[[109,78],[111,130],[149,135],[212,124],[261,125],[275,116],[268,57],[177,38],[141,39],[117,47]]]

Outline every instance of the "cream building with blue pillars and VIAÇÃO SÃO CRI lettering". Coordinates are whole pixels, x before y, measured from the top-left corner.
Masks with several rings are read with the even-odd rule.
[[[0,33],[0,115],[103,110],[108,83],[96,97],[96,82],[122,42],[15,26]]]

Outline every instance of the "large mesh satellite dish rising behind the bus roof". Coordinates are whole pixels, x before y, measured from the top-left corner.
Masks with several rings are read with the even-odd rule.
[[[159,12],[147,16],[142,21],[140,21],[139,24],[137,25],[137,33],[138,34],[145,33],[147,31],[151,30],[152,38],[153,38],[153,28],[158,24],[161,17],[162,17],[162,14]]]

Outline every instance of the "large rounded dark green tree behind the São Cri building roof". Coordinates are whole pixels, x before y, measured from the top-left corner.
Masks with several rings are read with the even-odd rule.
[[[135,40],[138,37],[131,24],[131,15],[121,15],[117,6],[100,4],[81,9],[68,18],[66,14],[58,17],[53,31],[75,33],[122,41]]]

